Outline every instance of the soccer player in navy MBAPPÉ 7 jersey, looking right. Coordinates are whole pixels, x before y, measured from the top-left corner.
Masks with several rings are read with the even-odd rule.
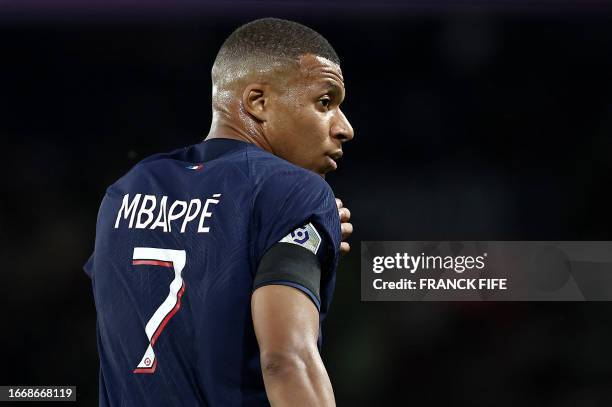
[[[323,178],[353,138],[339,64],[301,24],[238,28],[206,140],[107,189],[85,266],[101,406],[335,404],[320,349],[352,231]]]

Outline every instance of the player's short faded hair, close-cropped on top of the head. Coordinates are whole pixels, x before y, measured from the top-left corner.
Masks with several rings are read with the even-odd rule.
[[[249,73],[297,66],[305,54],[340,65],[340,58],[329,42],[305,25],[272,17],[251,21],[238,27],[219,49],[212,68],[213,86],[224,88]]]

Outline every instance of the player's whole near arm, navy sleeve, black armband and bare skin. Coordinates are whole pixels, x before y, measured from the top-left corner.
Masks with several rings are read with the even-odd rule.
[[[304,170],[276,174],[255,195],[253,230],[251,312],[268,398],[334,405],[317,346],[340,241],[333,192]]]

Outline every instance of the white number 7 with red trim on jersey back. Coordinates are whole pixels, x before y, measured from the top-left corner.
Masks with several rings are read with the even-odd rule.
[[[164,330],[168,321],[177,313],[181,307],[181,297],[185,292],[185,282],[181,272],[186,262],[185,250],[156,249],[152,247],[135,247],[132,256],[134,266],[160,266],[174,269],[174,279],[170,283],[170,292],[164,302],[155,310],[155,313],[147,322],[145,332],[149,338],[149,346],[140,363],[134,369],[134,373],[154,373],[157,367],[157,359],[153,352],[153,345]]]

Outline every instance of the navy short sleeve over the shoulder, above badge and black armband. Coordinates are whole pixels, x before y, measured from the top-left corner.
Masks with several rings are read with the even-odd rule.
[[[313,252],[321,270],[331,272],[338,262],[341,232],[335,197],[327,182],[302,169],[279,171],[267,178],[253,204],[256,263],[274,244],[309,223],[320,235],[320,244]]]

